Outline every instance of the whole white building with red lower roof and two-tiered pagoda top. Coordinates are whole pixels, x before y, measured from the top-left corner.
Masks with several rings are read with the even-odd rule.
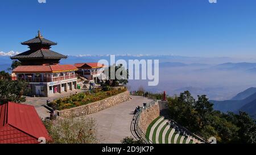
[[[67,56],[49,50],[56,43],[44,39],[39,31],[38,36],[22,44],[30,50],[11,57],[22,62],[13,70],[12,78],[30,82],[30,95],[50,97],[77,89],[75,71],[78,69],[73,65],[59,65],[61,58]]]

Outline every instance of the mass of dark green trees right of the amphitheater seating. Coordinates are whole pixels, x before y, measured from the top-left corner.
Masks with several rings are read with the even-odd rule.
[[[218,143],[256,143],[255,120],[245,112],[237,115],[213,110],[206,95],[195,100],[189,91],[167,99],[170,118],[192,132],[214,136]]]

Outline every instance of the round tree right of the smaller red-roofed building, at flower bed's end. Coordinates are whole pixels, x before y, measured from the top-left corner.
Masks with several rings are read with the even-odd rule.
[[[125,69],[122,64],[109,66],[109,68],[105,70],[105,73],[108,73],[109,81],[106,83],[109,85],[112,83],[111,85],[115,87],[128,83],[129,70]]]

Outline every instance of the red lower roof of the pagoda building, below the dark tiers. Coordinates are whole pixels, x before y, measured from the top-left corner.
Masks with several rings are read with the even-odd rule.
[[[74,65],[30,65],[18,66],[13,73],[55,73],[77,70]]]

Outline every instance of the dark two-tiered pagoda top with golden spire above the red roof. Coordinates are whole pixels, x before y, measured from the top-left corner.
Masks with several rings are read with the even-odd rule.
[[[51,46],[57,43],[44,39],[40,31],[35,38],[21,44],[28,45],[30,50],[13,56],[11,59],[19,60],[22,65],[56,65],[59,64],[61,58],[67,58],[67,56],[51,51]]]

